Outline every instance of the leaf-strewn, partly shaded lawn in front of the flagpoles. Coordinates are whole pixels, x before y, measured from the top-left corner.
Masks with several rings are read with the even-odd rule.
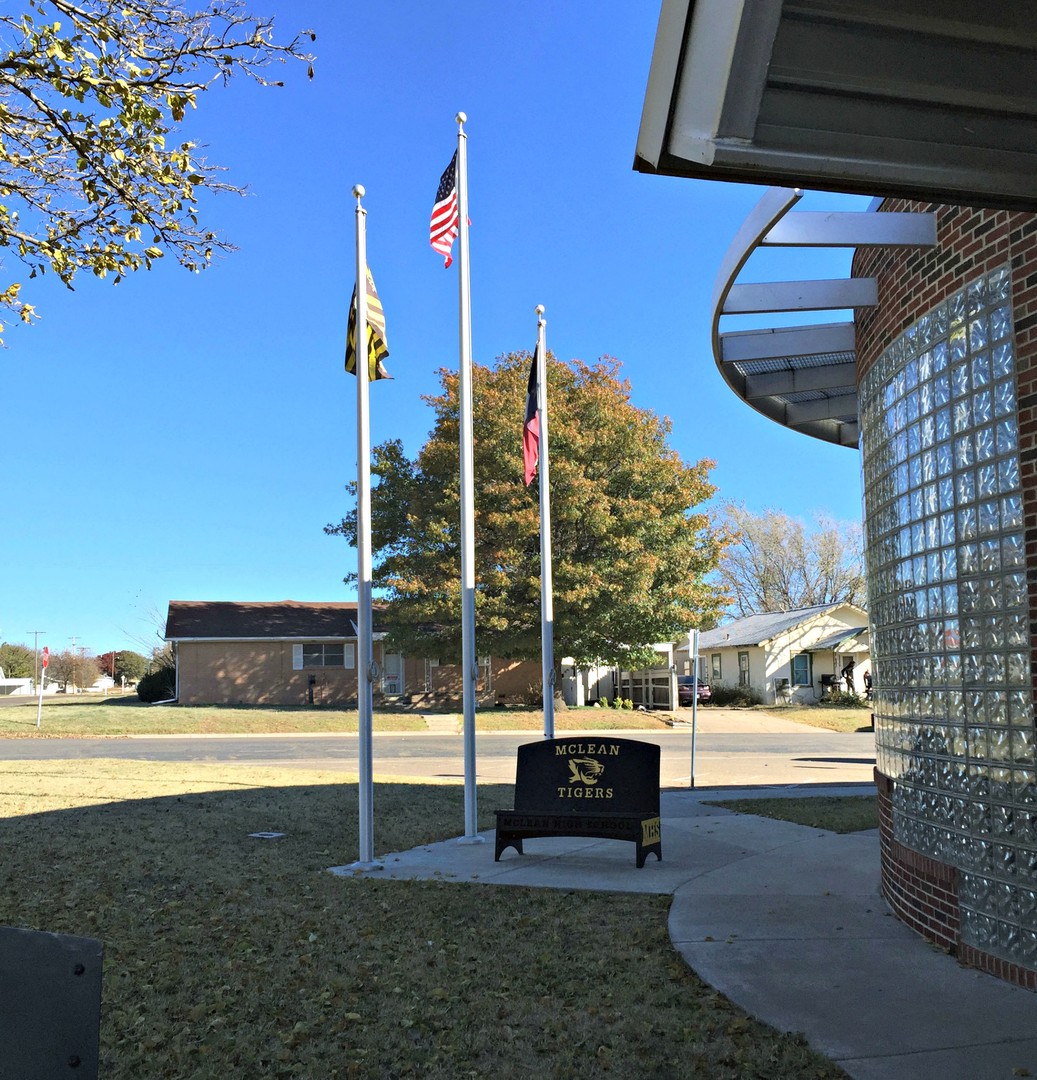
[[[462,832],[460,786],[375,808],[378,852]],[[105,943],[106,1080],[845,1076],[691,973],[668,897],[334,877],[356,819],[340,774],[0,762],[0,922]]]

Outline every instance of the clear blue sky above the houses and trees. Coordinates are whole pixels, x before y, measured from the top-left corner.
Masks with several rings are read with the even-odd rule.
[[[54,651],[73,636],[142,649],[171,599],[353,598],[341,579],[354,554],[322,529],[355,476],[350,192],[367,190],[394,376],[372,389],[372,435],[414,454],[432,422],[421,395],[458,362],[457,262],[444,270],[428,244],[458,110],[475,361],[529,349],[543,303],[556,355],[616,356],[634,403],[671,417],[673,447],[715,459],[717,500],[859,518],[857,453],[758,416],[713,363],[713,279],[763,189],[631,167],[656,4],[253,6],[282,36],[317,32],[315,78],[288,68],[284,89],[214,89],[185,120],[250,188],[204,206],[239,251],[200,275],[170,259],[118,287],[23,291],[41,319],[12,327],[0,353],[0,640],[40,630]],[[845,273],[848,258],[790,254],[777,275]],[[0,267],[4,283],[18,274]]]

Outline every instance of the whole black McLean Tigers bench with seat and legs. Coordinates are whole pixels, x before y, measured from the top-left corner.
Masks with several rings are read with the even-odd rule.
[[[514,809],[497,811],[495,862],[542,836],[631,840],[638,868],[649,852],[661,861],[659,747],[607,735],[520,746]]]

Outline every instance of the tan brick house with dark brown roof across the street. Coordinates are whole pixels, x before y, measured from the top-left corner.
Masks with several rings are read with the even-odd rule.
[[[460,699],[457,664],[386,649],[375,608],[375,696],[413,703]],[[348,704],[356,700],[356,605],[335,602],[172,600],[165,638],[175,646],[184,705]],[[520,701],[540,665],[479,658],[482,704]]]

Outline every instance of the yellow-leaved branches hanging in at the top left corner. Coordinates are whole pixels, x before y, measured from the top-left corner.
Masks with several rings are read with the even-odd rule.
[[[166,253],[197,271],[228,251],[199,197],[241,189],[175,127],[214,83],[308,65],[312,35],[278,43],[243,0],[22,6],[0,13],[0,247],[70,288],[81,270],[118,282]],[[0,306],[29,322],[21,288],[0,283]]]

